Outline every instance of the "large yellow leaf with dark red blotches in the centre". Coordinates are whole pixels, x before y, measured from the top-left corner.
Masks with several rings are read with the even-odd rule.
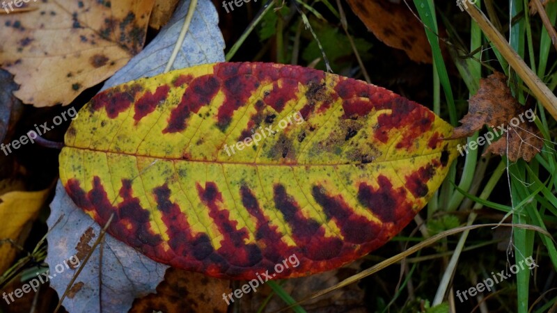
[[[79,207],[101,225],[114,214],[108,232],[157,262],[288,278],[351,262],[400,232],[456,158],[458,141],[443,140],[451,132],[363,81],[217,63],[95,96],[65,135],[60,175]],[[256,134],[265,138],[239,150]],[[291,255],[299,266],[275,271]]]

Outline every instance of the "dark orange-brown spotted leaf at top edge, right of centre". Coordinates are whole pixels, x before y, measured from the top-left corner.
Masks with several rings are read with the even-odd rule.
[[[396,49],[402,49],[411,60],[432,63],[430,42],[421,22],[405,3],[388,0],[347,0],[363,24],[377,37]]]

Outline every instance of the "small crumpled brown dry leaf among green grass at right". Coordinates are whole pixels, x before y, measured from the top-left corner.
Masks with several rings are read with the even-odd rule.
[[[501,138],[494,143],[486,141],[489,147],[485,153],[507,154],[511,161],[519,158],[530,161],[544,143],[533,123],[535,113],[512,97],[506,81],[507,77],[500,72],[480,80],[480,89],[470,98],[468,113],[460,120],[462,125],[455,128],[450,138],[471,136],[486,125],[493,129],[488,131],[491,139]]]

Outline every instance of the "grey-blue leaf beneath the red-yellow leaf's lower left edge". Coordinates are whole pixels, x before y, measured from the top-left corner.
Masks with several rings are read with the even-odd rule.
[[[50,204],[48,253],[46,262],[49,264],[50,286],[61,296],[75,271],[66,269],[56,272],[56,265],[63,264],[73,255],[77,255],[80,237],[92,234],[86,245],[93,243],[100,234],[100,226],[77,207],[65,192],[64,186],[58,181],[56,197]],[[58,220],[59,219],[59,220]],[[86,236],[86,235],[85,235]],[[79,250],[88,248],[80,246]],[[80,256],[84,259],[83,256]],[[164,278],[168,266],[159,264],[142,255],[130,246],[114,239],[109,234],[102,244],[102,271],[99,271],[100,248],[97,248],[84,266],[74,286],[80,286],[72,298],[65,298],[63,305],[68,312],[127,312],[135,298],[149,294]],[[76,262],[74,262],[76,263]],[[79,264],[78,263],[78,264]],[[56,275],[54,277],[54,275]],[[100,282],[102,279],[102,283]],[[102,286],[102,288],[99,288]],[[102,290],[102,291],[100,291]],[[102,295],[100,296],[100,292]],[[102,300],[100,300],[102,299]]]

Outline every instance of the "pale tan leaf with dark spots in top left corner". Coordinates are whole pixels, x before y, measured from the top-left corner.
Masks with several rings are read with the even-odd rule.
[[[155,0],[37,2],[0,15],[1,66],[26,104],[69,104],[141,51]]]

